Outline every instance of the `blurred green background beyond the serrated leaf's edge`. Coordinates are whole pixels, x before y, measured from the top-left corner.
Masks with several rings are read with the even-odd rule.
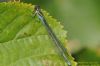
[[[78,62],[100,61],[100,0],[21,0],[40,5],[68,31],[68,47]],[[97,64],[97,63],[95,63]]]

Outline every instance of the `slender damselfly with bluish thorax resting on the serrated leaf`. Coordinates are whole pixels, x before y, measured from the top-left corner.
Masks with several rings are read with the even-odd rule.
[[[35,10],[34,10],[34,16],[36,16],[36,15],[38,16],[38,18],[40,19],[40,21],[42,22],[42,24],[46,28],[49,36],[53,40],[54,44],[56,45],[58,51],[60,52],[60,54],[63,57],[63,59],[65,60],[65,62],[68,64],[68,66],[72,66],[72,64],[68,58],[69,54],[68,54],[66,48],[61,44],[61,41],[57,38],[57,36],[55,35],[53,30],[51,29],[51,27],[47,23],[46,19],[44,18],[44,15],[40,9],[40,6],[38,6],[38,5],[35,6]]]

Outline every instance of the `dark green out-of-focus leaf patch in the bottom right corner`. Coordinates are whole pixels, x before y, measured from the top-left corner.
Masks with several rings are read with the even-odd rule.
[[[100,66],[100,50],[82,49],[74,54],[79,65]]]

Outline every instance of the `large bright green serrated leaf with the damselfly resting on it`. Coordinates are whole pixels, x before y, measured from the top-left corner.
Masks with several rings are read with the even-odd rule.
[[[0,3],[0,66],[67,66],[44,26],[33,18],[33,9],[34,5],[26,3]],[[65,46],[66,31],[42,11]],[[71,55],[68,58],[76,66]]]

